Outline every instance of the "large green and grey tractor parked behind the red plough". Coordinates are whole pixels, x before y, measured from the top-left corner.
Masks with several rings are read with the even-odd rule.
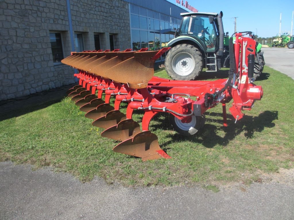
[[[221,67],[229,67],[229,37],[223,29],[223,12],[181,13],[181,16],[181,26],[168,43],[171,47],[165,59],[168,75],[176,80],[194,80],[203,68],[206,72],[217,72]],[[250,31],[241,33],[254,39]],[[261,44],[256,43],[254,79],[265,65],[260,49]]]

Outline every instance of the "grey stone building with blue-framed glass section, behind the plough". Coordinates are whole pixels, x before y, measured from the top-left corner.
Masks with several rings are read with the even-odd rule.
[[[148,32],[150,26],[145,27],[151,20],[152,25],[161,22],[160,29],[176,27],[181,21],[180,8],[160,1],[164,3],[165,14],[156,12],[158,1],[154,2],[156,5],[148,0],[2,0],[0,100],[74,83],[74,70],[60,62],[71,51],[125,50],[134,45],[143,47],[156,39],[168,41],[170,35],[163,34],[161,39],[159,30],[157,36],[156,31]],[[148,4],[154,5],[154,15],[147,9]],[[173,13],[178,18],[167,15],[169,6],[177,9]],[[156,13],[158,18],[153,18]],[[149,39],[150,33],[153,40]]]

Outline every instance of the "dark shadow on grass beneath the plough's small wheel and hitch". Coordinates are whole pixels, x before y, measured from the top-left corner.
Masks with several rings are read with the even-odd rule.
[[[218,113],[210,113],[210,116],[222,116]],[[179,141],[191,141],[193,143],[201,143],[207,148],[213,148],[216,145],[226,146],[236,136],[245,131],[244,135],[247,138],[253,138],[254,133],[262,132],[264,128],[272,128],[275,126],[274,120],[278,119],[278,111],[264,111],[259,116],[244,116],[243,119],[236,124],[235,119],[232,116],[228,116],[228,126],[216,126],[210,123],[206,123],[203,130],[195,136],[182,136],[179,133],[168,134],[168,141],[164,142],[161,147],[165,149],[169,144]],[[157,119],[158,120],[158,119]],[[161,119],[161,122],[167,123],[168,119]],[[159,120],[160,121],[160,120]],[[215,120],[212,120],[216,122]],[[222,124],[221,120],[217,120],[217,123]],[[152,129],[163,128],[164,126],[152,125]],[[166,126],[165,130],[170,130],[171,126]],[[217,131],[223,131],[225,135],[223,137],[217,134]]]

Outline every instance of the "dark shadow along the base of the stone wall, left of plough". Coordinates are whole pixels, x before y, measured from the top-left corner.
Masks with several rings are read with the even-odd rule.
[[[0,105],[0,121],[18,117],[58,103],[66,97],[66,91],[71,87],[73,87],[73,85],[66,85],[21,98],[2,101]]]

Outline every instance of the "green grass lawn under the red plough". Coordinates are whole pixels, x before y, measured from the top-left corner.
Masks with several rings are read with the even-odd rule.
[[[156,70],[156,75],[167,77],[165,70]],[[199,80],[219,77],[226,78],[227,71],[203,72]],[[256,84],[263,86],[263,99],[251,111],[244,111],[246,115],[236,124],[228,113],[228,127],[222,124],[221,106],[207,111],[203,130],[188,138],[172,130],[168,115],[156,116],[150,130],[172,157],[169,160],[142,162],[114,153],[112,148],[119,142],[101,137],[103,129],[91,126],[92,120],[66,97],[35,111],[23,109],[17,117],[13,111],[0,116],[0,161],[30,163],[36,168],[49,165],[81,181],[97,175],[124,185],[197,184],[217,192],[219,184],[249,184],[264,173],[292,168],[294,161],[294,81],[265,67]],[[121,111],[125,113],[126,108]],[[135,121],[141,122],[142,117],[141,111],[135,112]]]

